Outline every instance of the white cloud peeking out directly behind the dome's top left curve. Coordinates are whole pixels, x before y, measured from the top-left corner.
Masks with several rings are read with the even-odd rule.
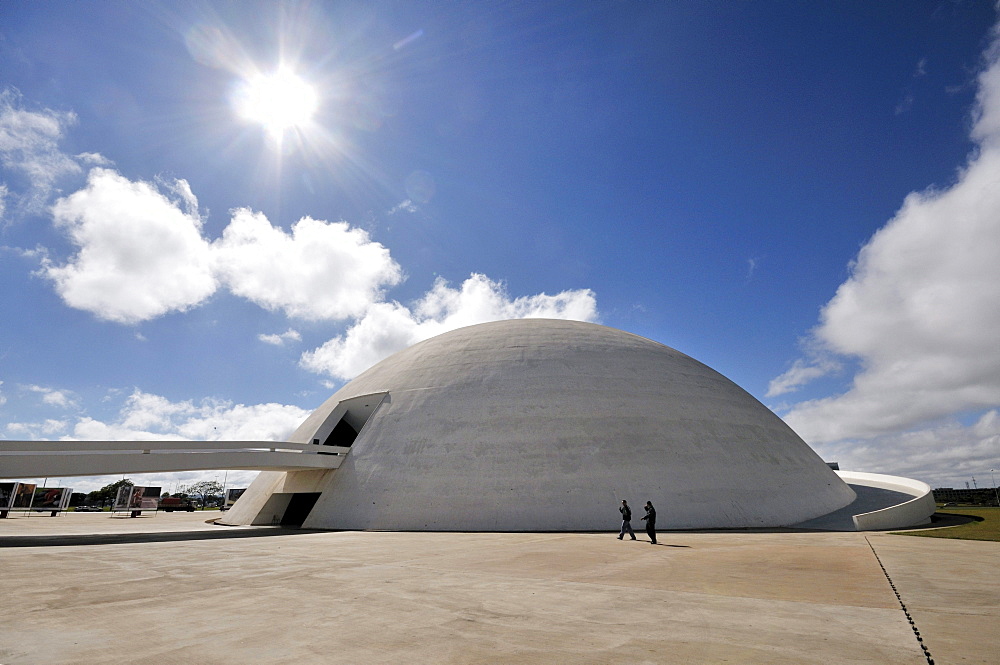
[[[500,282],[473,274],[461,288],[438,279],[413,308],[378,303],[347,333],[302,355],[306,369],[352,378],[379,360],[416,342],[455,328],[503,319],[552,318],[593,321],[597,302],[589,289],[511,299]]]

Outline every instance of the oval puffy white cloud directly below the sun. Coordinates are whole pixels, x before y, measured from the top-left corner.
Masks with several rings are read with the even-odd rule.
[[[403,278],[388,249],[346,222],[304,217],[289,234],[240,209],[213,246],[233,293],[304,319],[359,316]]]

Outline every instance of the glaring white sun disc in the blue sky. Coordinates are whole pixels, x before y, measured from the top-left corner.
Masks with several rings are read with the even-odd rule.
[[[235,106],[243,118],[260,123],[275,139],[285,130],[301,127],[312,119],[319,103],[316,90],[287,69],[257,74],[236,91]]]

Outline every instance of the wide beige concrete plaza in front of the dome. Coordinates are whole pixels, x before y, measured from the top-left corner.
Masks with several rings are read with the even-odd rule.
[[[218,515],[0,520],[0,664],[926,665],[922,645],[937,665],[1000,662],[998,543],[205,524]]]

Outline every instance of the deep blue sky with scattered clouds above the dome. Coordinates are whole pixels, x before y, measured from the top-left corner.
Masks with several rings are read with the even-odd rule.
[[[843,468],[986,485],[996,24],[987,2],[3,3],[0,436],[281,438],[395,350],[553,316],[688,353]]]

